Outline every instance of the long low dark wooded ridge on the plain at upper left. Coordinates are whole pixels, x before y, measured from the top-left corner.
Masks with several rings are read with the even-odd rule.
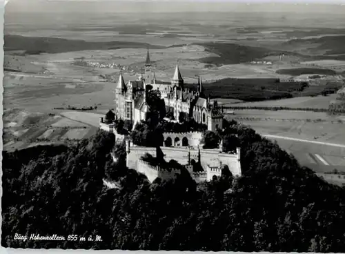
[[[21,35],[4,36],[5,51],[23,50],[24,55],[41,53],[63,53],[81,50],[112,50],[117,48],[163,48],[148,43],[128,41],[91,42],[55,37],[24,37]]]

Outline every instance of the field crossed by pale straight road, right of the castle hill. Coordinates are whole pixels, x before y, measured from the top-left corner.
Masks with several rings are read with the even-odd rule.
[[[345,121],[325,113],[236,110],[228,118],[277,141],[300,164],[319,173],[345,170]]]

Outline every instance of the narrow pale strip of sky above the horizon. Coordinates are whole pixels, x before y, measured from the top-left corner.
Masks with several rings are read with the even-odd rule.
[[[324,4],[324,3],[327,4]],[[10,0],[6,12],[308,12],[345,15],[345,0]]]

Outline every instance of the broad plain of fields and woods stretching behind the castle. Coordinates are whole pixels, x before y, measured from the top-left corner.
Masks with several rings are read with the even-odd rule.
[[[143,72],[146,48],[158,80],[170,81],[178,61],[186,84],[195,87],[201,76],[206,95],[224,105],[328,108],[335,95],[315,95],[344,85],[345,27],[334,26],[344,17],[329,21],[320,16],[329,28],[319,28],[313,17],[298,14],[285,19],[273,14],[264,26],[258,26],[262,14],[250,15],[251,19],[243,13],[210,13],[209,17],[157,13],[141,17],[143,21],[125,14],[95,14],[92,19],[81,14],[42,14],[30,16],[27,23],[26,14],[6,13],[5,148],[75,141],[95,133],[99,117],[114,108],[120,70],[125,81],[137,79]],[[315,74],[319,77],[312,80]],[[304,86],[305,82],[310,85]],[[68,106],[97,106],[97,110],[56,109]],[[345,121],[343,116],[265,110],[235,114],[232,117],[262,134],[345,144],[344,124],[339,123],[339,119]],[[315,159],[315,167],[345,163],[339,147],[278,141],[303,164],[312,162],[307,153]]]

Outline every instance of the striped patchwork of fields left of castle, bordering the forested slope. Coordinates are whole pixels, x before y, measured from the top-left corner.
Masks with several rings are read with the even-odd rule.
[[[6,110],[4,115],[3,147],[15,150],[39,144],[66,143],[94,135],[99,121],[92,124],[73,119],[80,113],[54,115],[29,113],[19,109]],[[80,119],[80,117],[79,117]]]

